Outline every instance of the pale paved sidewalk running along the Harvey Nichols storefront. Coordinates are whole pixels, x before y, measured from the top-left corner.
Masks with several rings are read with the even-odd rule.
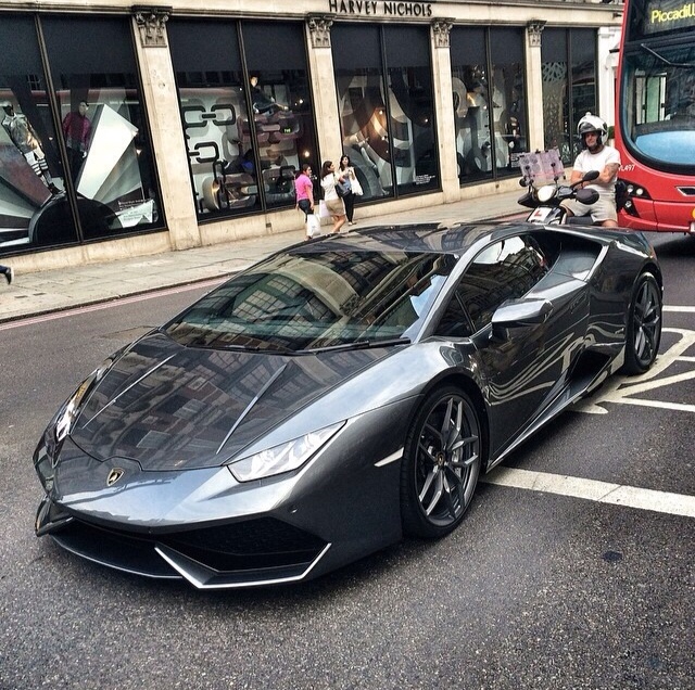
[[[454,204],[359,219],[355,230],[399,222],[456,222],[523,214],[521,192],[501,192]],[[237,240],[229,244],[137,256],[75,268],[16,273],[12,285],[0,284],[0,323],[59,311],[151,290],[182,285],[235,273],[268,254],[303,239],[301,231]],[[11,259],[4,261],[12,265]],[[3,281],[3,277],[0,277]]]

